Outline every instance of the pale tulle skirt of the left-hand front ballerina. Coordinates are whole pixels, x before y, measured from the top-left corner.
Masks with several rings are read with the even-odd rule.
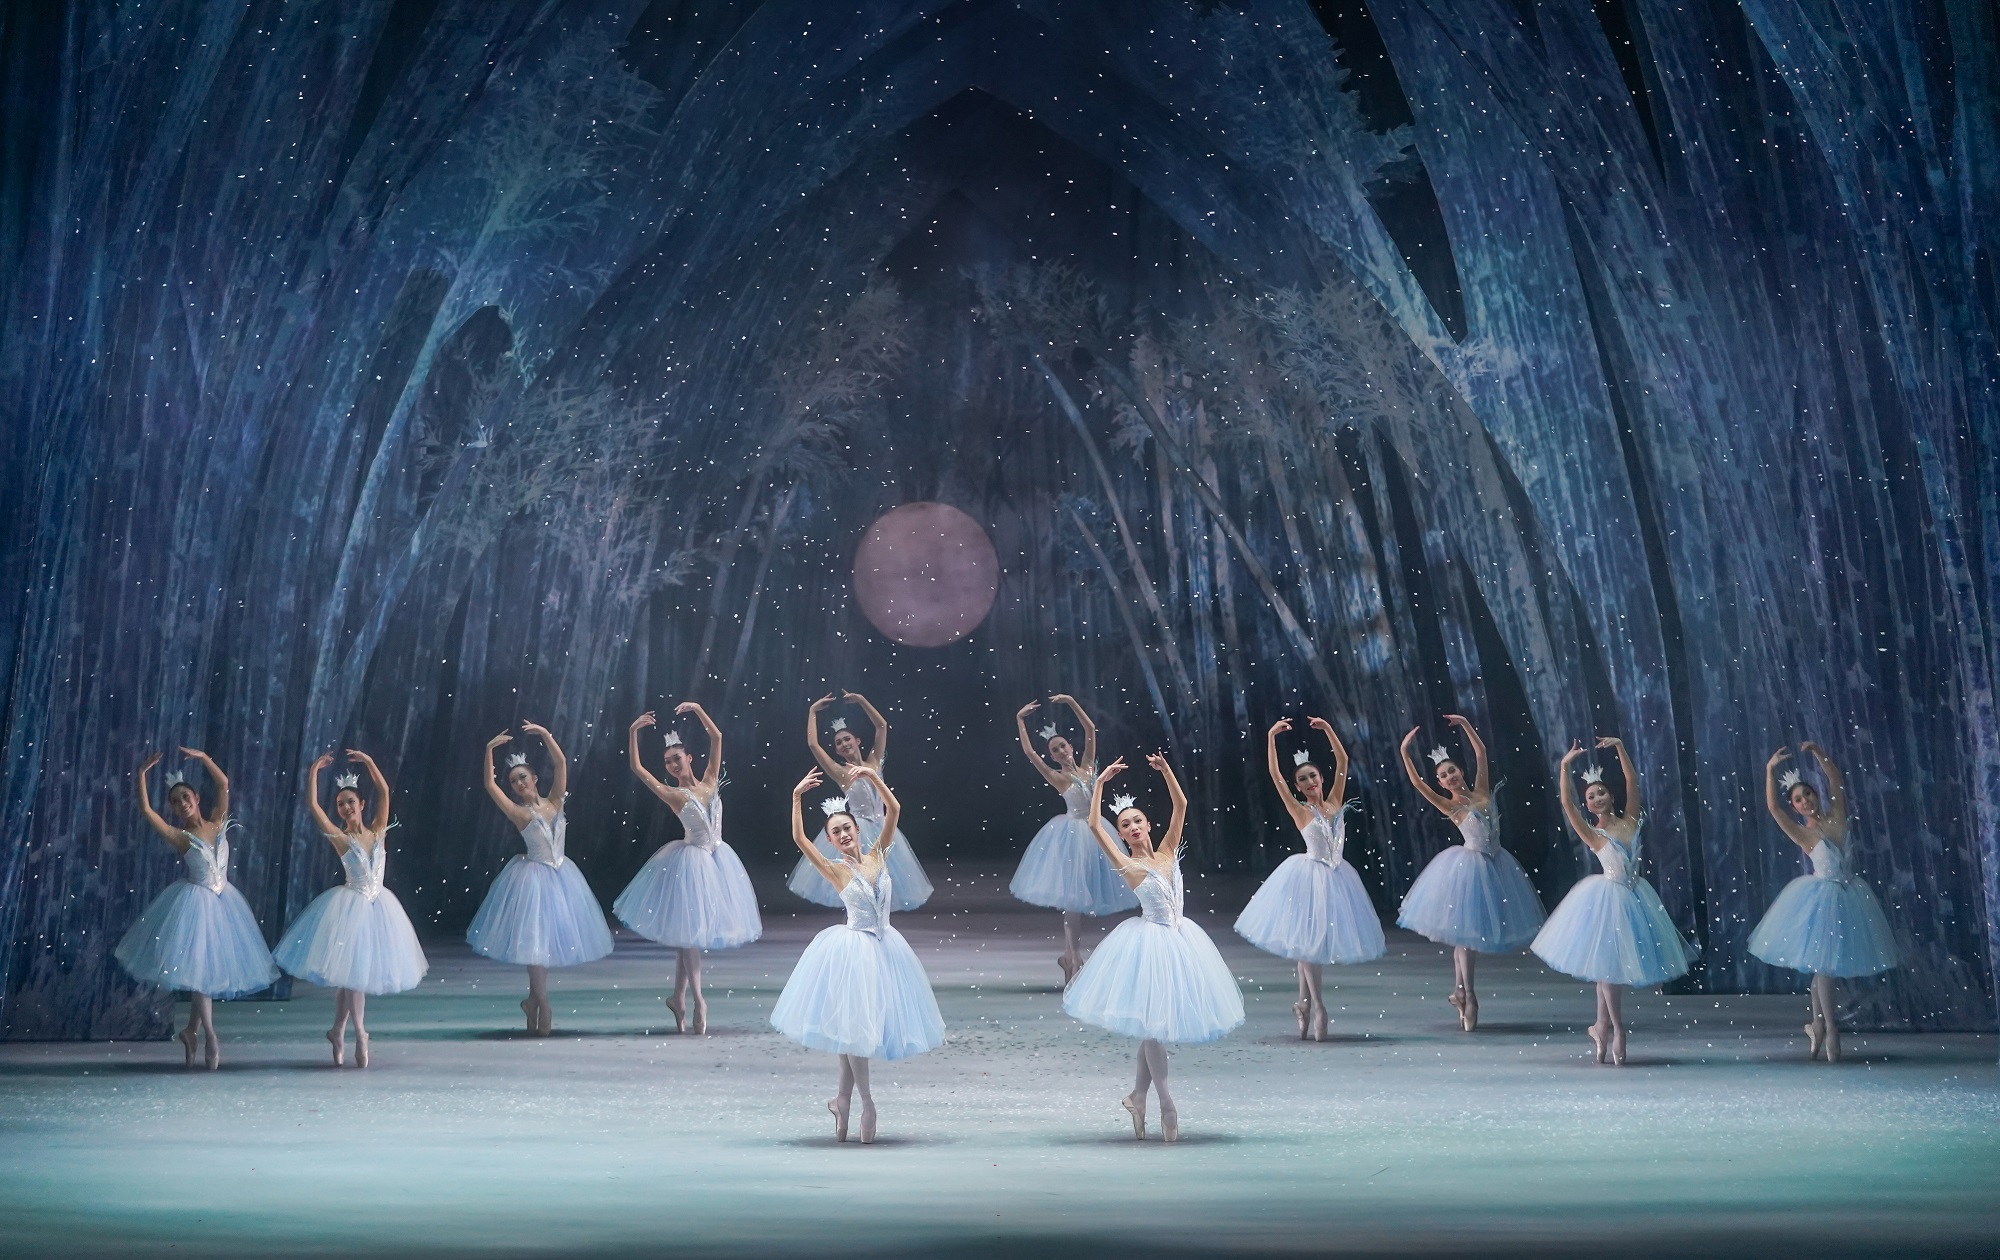
[[[944,1040],[930,976],[896,928],[826,928],[784,982],[770,1026],[808,1050],[910,1058]]]

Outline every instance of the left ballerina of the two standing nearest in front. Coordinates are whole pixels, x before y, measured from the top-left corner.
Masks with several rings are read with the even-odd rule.
[[[792,978],[784,982],[778,1004],[770,1008],[772,1028],[808,1050],[840,1056],[840,1086],[826,1102],[826,1110],[834,1114],[836,1142],[848,1140],[848,1108],[856,1088],[862,1092],[862,1142],[874,1142],[870,1058],[894,1062],[944,1042],[944,1016],[930,992],[930,976],[902,932],[888,926],[894,876],[884,850],[896,844],[902,804],[874,766],[856,766],[850,782],[856,780],[872,784],[882,796],[884,822],[864,852],[862,826],[848,812],[848,802],[824,802],[826,832],[840,854],[832,860],[806,840],[800,818],[800,798],[820,786],[820,772],[808,770],[792,788],[792,844],[830,888],[840,890],[848,922],[812,938],[792,968]]]

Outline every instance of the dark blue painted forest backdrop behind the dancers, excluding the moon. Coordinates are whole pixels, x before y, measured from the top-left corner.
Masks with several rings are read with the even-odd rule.
[[[1384,908],[1444,840],[1408,726],[1486,732],[1550,900],[1554,758],[1622,734],[1716,992],[1796,986],[1744,938],[1818,738],[1912,956],[1858,1018],[1990,1028],[1996,50],[1970,0],[12,6],[0,1028],[164,1032],[110,960],[146,750],[230,772],[276,932],[334,878],[302,768],[370,748],[448,932],[500,726],[610,898],[670,834],[636,712],[716,712],[776,866],[828,686],[992,864],[1054,808],[1026,698],[1166,748],[1244,874],[1322,712]],[[928,652],[848,596],[916,498],[1006,568]]]

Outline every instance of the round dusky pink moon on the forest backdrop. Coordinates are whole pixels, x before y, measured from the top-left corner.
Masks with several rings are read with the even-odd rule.
[[[1000,592],[1000,556],[976,520],[948,504],[884,512],[854,550],[854,598],[876,630],[942,648],[978,630]]]

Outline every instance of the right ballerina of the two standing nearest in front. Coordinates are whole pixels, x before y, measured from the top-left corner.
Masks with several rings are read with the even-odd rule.
[[[1138,1084],[1120,1098],[1132,1116],[1132,1136],[1146,1136],[1146,1088],[1160,1094],[1160,1136],[1180,1140],[1180,1112],[1166,1092],[1166,1046],[1218,1040],[1244,1022],[1244,998],[1208,932],[1182,916],[1180,828],[1188,796],[1172,766],[1158,752],[1146,764],[1166,780],[1174,818],[1166,838],[1152,844],[1152,822],[1130,796],[1112,802],[1118,840],[1104,830],[1104,784],[1124,774],[1124,760],[1104,768],[1090,788],[1090,832],[1098,848],[1138,894],[1140,918],[1128,918],[1090,954],[1076,982],[1062,996],[1062,1010],[1086,1024],[1140,1038]]]

